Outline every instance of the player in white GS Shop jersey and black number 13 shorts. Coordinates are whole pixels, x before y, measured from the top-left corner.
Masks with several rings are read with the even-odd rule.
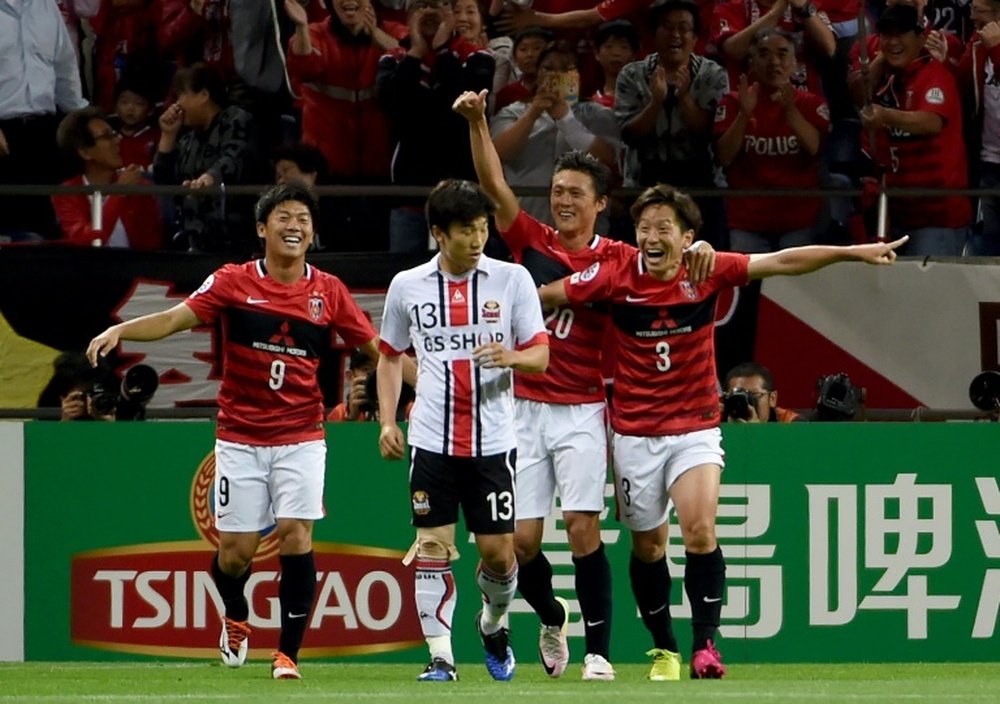
[[[514,369],[543,372],[548,336],[527,270],[483,254],[493,203],[468,181],[439,183],[427,224],[440,253],[393,278],[382,316],[378,365],[381,408],[395,408],[403,353],[417,354],[417,398],[410,415],[410,497],[417,538],[416,603],[431,662],[418,679],[457,679],[451,648],[461,506],[476,536],[483,596],[477,624],[486,667],[514,675],[507,609],[517,589],[514,558]],[[379,450],[403,456],[402,430],[382,419]]]

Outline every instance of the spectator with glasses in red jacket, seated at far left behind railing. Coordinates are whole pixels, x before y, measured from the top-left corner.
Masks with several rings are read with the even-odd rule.
[[[81,173],[66,181],[67,186],[148,183],[138,165],[122,169],[120,138],[100,108],[82,108],[64,117],[57,141],[81,166]],[[153,250],[163,243],[160,208],[152,196],[104,196],[97,228],[87,195],[52,196],[52,206],[70,244]]]

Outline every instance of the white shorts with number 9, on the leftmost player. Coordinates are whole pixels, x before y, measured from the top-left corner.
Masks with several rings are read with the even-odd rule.
[[[326,442],[243,445],[215,441],[215,527],[249,533],[277,518],[316,520],[323,510]]]

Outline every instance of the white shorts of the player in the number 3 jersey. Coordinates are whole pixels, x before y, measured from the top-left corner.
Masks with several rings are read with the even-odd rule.
[[[681,435],[612,436],[618,517],[630,530],[652,530],[667,520],[670,487],[701,464],[725,467],[718,428]]]

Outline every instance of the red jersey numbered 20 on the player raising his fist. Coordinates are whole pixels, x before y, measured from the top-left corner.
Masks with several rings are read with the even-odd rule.
[[[583,271],[627,245],[600,235],[581,250],[567,251],[559,233],[523,210],[506,232],[504,242],[514,260],[531,274],[536,286]],[[514,395],[542,403],[593,403],[604,400],[600,350],[607,327],[603,305],[563,306],[545,311],[549,333],[549,368],[544,374],[514,374]]]

